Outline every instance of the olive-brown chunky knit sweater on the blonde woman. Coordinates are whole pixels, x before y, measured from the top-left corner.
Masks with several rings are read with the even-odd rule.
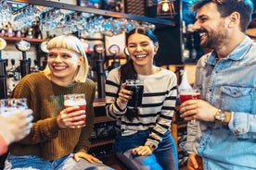
[[[73,83],[69,87],[58,86],[44,73],[33,73],[19,81],[13,98],[27,98],[33,111],[31,133],[23,140],[13,143],[13,155],[36,155],[45,160],[55,160],[70,152],[89,149],[94,121],[93,103],[96,85],[87,79],[85,83]],[[63,110],[63,95],[84,93],[86,98],[86,126],[83,128],[58,128],[57,115]]]

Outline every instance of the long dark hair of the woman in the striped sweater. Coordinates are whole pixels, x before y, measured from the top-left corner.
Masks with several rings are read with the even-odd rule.
[[[129,31],[126,34],[126,44],[128,44],[128,39],[134,33],[139,33],[146,35],[150,40],[154,43],[159,42],[157,36],[153,33],[152,30],[143,29],[143,28],[136,28],[134,30]],[[126,79],[137,79],[137,73],[134,69],[134,62],[133,60],[127,61],[122,67],[120,68],[120,75],[121,75],[121,84],[126,81]],[[138,110],[137,109],[129,109],[127,108],[127,112],[125,116],[128,120],[133,121],[134,118],[138,118]]]

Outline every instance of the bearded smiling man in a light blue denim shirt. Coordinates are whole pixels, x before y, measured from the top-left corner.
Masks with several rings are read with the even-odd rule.
[[[180,106],[189,122],[188,164],[204,169],[256,168],[256,43],[245,34],[253,11],[250,0],[200,0],[193,29],[200,45],[212,49],[198,60],[195,86],[201,100]]]

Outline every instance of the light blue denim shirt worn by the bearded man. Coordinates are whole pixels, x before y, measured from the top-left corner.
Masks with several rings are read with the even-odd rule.
[[[201,98],[232,113],[228,126],[218,122],[188,123],[191,151],[202,156],[204,169],[256,169],[256,43],[248,36],[219,60],[203,55],[196,82]],[[205,113],[207,114],[207,113]]]

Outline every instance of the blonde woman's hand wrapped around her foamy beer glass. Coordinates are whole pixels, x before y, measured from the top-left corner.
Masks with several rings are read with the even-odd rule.
[[[79,110],[79,106],[63,109],[57,116],[59,128],[71,128],[84,126],[85,110]]]

